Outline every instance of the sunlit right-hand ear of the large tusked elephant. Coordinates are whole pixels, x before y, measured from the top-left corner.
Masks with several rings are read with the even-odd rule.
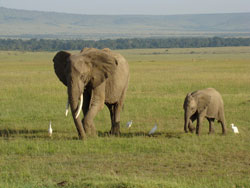
[[[116,59],[101,50],[90,51],[85,56],[92,65],[90,82],[93,88],[99,86],[116,71],[118,64]]]

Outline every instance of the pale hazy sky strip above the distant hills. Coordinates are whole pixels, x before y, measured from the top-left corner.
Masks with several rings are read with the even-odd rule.
[[[250,12],[250,0],[0,0],[0,7],[97,15]]]

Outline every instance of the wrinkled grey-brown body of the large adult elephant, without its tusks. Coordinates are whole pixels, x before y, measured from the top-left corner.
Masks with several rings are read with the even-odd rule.
[[[111,117],[111,134],[120,134],[120,111],[129,81],[129,66],[125,58],[109,49],[84,48],[71,55],[58,52],[54,69],[59,80],[67,86],[68,100],[79,139],[95,136],[94,117],[107,105]],[[84,118],[76,118],[83,93]]]

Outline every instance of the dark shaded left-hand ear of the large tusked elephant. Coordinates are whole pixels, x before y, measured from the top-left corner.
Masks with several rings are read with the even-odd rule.
[[[58,52],[55,57],[53,58],[54,62],[54,70],[59,78],[59,80],[67,86],[67,77],[66,77],[66,65],[67,65],[67,59],[69,58],[71,54],[65,51]]]

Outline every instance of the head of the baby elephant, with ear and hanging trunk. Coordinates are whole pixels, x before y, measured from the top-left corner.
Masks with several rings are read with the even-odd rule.
[[[188,93],[184,104],[184,130],[188,132],[187,127],[189,127],[189,123],[191,121],[191,117],[197,113],[197,115],[201,114],[209,105],[211,97],[205,93]],[[190,128],[190,127],[189,127]]]

